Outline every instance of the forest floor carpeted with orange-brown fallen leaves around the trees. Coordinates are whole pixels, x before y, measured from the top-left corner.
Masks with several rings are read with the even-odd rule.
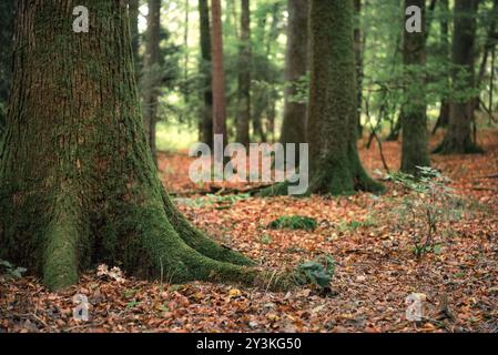
[[[196,226],[271,270],[329,254],[335,260],[331,290],[169,285],[94,271],[79,285],[50,293],[33,277],[3,276],[0,332],[498,332],[498,130],[481,131],[479,143],[484,155],[431,156],[474,207],[448,225],[450,233],[437,235],[437,253],[420,260],[411,250],[415,232],[399,227],[403,217],[394,213],[405,195],[394,183],[387,182],[379,197],[214,195],[205,192],[220,186],[200,189],[187,180],[185,154],[163,154],[165,184]],[[383,146],[396,170],[400,144]],[[384,170],[375,142],[370,150],[360,143],[360,155],[370,172]],[[314,217],[318,226],[309,232],[267,227],[283,215]],[[406,320],[411,293],[425,298],[421,322]],[[90,301],[89,322],[72,317],[75,294]]]

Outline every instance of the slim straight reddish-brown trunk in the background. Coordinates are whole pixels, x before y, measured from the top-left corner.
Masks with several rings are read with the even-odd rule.
[[[213,55],[213,133],[222,134],[226,142],[225,72],[223,69],[222,6],[211,1],[211,48]]]

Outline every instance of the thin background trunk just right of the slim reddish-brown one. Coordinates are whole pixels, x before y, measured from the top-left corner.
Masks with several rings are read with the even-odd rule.
[[[251,121],[251,21],[250,0],[241,0],[241,49],[238,61],[238,116],[236,141],[250,145]]]

